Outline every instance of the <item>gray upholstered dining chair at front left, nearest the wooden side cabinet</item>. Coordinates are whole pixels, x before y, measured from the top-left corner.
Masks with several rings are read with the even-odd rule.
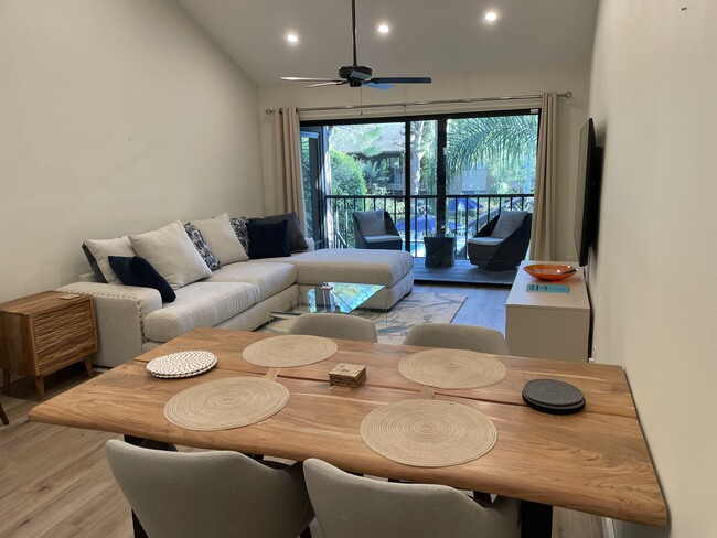
[[[301,464],[238,452],[167,452],[109,440],[107,460],[152,538],[296,538],[313,509]]]

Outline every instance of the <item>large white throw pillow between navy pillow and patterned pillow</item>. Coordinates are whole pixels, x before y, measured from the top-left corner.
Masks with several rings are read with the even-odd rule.
[[[146,258],[173,290],[212,276],[179,220],[154,232],[130,235],[129,240],[137,256]]]

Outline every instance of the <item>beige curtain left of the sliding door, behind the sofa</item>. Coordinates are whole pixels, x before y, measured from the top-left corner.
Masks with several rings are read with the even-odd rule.
[[[299,114],[286,107],[274,114],[274,169],[276,202],[279,213],[297,212],[302,232],[307,232],[301,180],[301,131]]]

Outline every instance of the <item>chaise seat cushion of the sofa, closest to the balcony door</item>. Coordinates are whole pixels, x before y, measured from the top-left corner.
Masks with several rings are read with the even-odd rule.
[[[277,260],[297,268],[297,283],[300,284],[354,282],[389,288],[414,269],[414,258],[403,250],[327,248]]]

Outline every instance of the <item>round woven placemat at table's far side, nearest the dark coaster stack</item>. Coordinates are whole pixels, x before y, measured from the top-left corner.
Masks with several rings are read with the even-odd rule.
[[[419,385],[437,388],[480,388],[505,378],[505,366],[482,353],[467,349],[426,349],[405,357],[398,370]]]

